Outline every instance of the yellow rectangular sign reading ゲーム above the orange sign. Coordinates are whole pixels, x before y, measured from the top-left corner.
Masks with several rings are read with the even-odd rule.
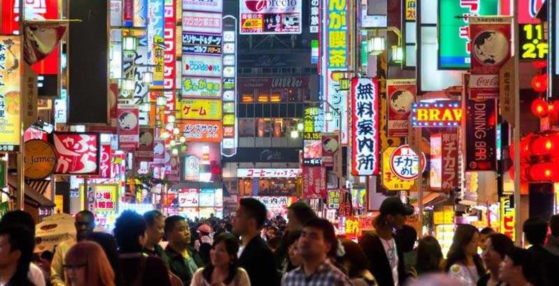
[[[177,119],[222,120],[222,100],[182,99],[177,102]]]

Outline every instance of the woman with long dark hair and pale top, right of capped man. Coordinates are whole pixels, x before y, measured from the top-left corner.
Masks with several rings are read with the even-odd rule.
[[[479,231],[473,225],[458,225],[447,255],[445,271],[449,276],[461,280],[466,285],[476,285],[484,276],[484,264],[477,255]]]

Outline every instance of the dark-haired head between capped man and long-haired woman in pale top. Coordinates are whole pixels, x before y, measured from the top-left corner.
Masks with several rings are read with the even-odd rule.
[[[417,243],[417,257],[415,269],[417,273],[440,272],[442,262],[442,250],[439,241],[433,236],[419,239]]]

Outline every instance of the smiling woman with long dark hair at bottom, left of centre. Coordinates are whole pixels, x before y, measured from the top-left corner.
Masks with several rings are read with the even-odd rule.
[[[191,286],[250,286],[245,269],[237,264],[239,241],[232,234],[220,234],[210,250],[210,262],[194,273]]]

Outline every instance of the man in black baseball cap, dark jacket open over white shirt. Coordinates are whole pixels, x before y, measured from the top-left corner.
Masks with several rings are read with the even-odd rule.
[[[375,218],[375,232],[363,234],[359,246],[367,255],[369,270],[379,285],[404,285],[404,253],[394,230],[404,225],[405,216],[412,215],[414,208],[403,204],[396,196],[386,198],[379,211]]]

